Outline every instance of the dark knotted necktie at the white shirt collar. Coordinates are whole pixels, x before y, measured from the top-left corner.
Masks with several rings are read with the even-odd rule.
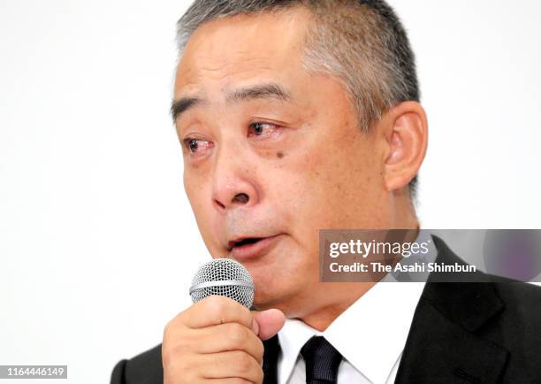
[[[301,355],[306,364],[307,384],[336,384],[342,355],[323,336],[306,342]]]

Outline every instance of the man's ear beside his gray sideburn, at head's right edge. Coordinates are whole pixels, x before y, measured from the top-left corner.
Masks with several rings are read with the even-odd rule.
[[[404,102],[385,113],[384,178],[387,191],[408,185],[423,163],[428,145],[428,122],[421,104]]]

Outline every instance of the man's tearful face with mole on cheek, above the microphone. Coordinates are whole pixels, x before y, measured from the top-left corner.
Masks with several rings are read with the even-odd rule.
[[[302,67],[308,22],[297,9],[204,24],[175,84],[203,241],[248,268],[262,309],[324,302],[318,231],[385,227],[389,214],[377,131],[362,134],[336,78]]]

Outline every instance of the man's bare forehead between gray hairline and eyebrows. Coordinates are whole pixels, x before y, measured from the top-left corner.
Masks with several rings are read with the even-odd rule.
[[[237,15],[198,27],[179,60],[175,96],[202,88],[231,86],[254,77],[298,76],[309,12]]]

